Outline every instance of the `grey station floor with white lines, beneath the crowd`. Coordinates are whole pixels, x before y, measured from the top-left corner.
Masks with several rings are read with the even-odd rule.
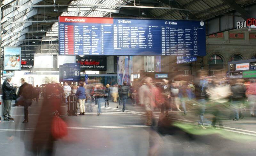
[[[29,107],[29,122],[26,124],[22,123],[24,110],[20,106],[12,107],[14,122],[1,120],[0,155],[31,155],[25,148],[24,140],[28,140],[33,133],[42,101],[43,99],[40,99],[39,103],[33,103]],[[92,103],[93,111],[86,111],[84,116],[65,115],[68,136],[55,142],[55,155],[146,156],[152,145],[158,149],[156,155],[163,156],[255,156],[256,154],[255,117],[246,117],[239,121],[224,120],[224,128],[217,129],[217,133],[196,135],[192,139],[184,134],[163,136],[154,131],[154,128],[145,125],[146,114],[143,107],[132,106],[129,100],[127,103],[125,112],[122,112],[119,103],[111,102],[110,107],[104,108],[102,105],[103,113],[100,116],[96,116],[98,108],[94,103]],[[91,104],[86,103],[86,109],[89,105]],[[61,108],[67,110],[65,104]],[[169,117],[180,116],[184,124],[189,124],[189,113],[187,116],[181,116],[182,112],[171,111]],[[160,112],[155,111],[154,115],[157,121]],[[231,137],[219,135],[220,133]],[[8,139],[9,136],[13,136],[13,139]]]

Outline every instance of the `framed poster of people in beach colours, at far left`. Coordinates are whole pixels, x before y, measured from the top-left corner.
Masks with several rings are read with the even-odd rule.
[[[20,47],[4,47],[4,70],[20,70]]]

